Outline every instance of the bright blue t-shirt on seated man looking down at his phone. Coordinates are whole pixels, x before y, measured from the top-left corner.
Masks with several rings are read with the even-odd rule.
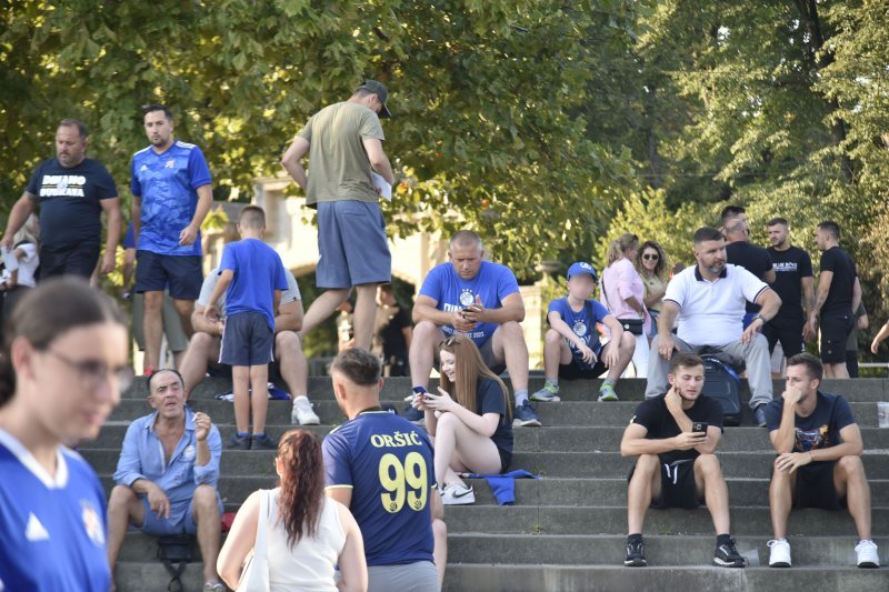
[[[434,300],[438,310],[456,312],[472,304],[476,297],[481,298],[486,309],[502,308],[503,299],[518,291],[519,282],[508,267],[482,261],[479,272],[471,280],[460,278],[453,263],[436,265],[423,280],[420,295]],[[478,323],[467,337],[480,348],[498,327],[497,323]],[[450,324],[443,325],[441,330],[447,335],[455,333],[453,325]]]

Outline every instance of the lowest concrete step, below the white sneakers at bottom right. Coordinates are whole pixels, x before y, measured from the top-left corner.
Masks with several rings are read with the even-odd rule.
[[[709,559],[709,558],[706,558]],[[806,566],[790,570],[747,568],[645,569],[573,565],[472,564],[448,565],[444,592],[509,590],[510,592],[886,592],[889,570]]]

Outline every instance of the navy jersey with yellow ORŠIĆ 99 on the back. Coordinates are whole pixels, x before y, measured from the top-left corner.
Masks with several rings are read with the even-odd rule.
[[[349,488],[368,565],[432,561],[436,482],[426,433],[388,411],[366,411],[324,438],[328,489]]]

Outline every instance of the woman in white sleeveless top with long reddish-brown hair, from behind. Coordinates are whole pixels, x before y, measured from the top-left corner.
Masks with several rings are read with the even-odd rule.
[[[281,483],[271,491],[266,521],[269,590],[366,591],[368,568],[361,531],[344,505],[324,495],[324,466],[318,438],[291,430],[274,460]],[[257,538],[261,491],[250,494],[219,553],[217,571],[234,590]],[[339,565],[339,581],[333,565]]]

